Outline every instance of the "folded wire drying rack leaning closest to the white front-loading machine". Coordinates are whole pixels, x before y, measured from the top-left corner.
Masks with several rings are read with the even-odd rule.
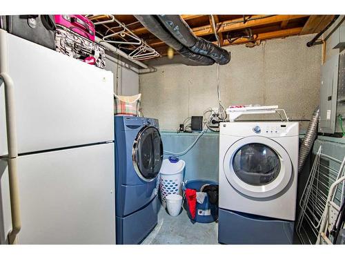
[[[302,244],[317,243],[328,204],[328,193],[332,184],[344,176],[344,162],[345,157],[343,161],[337,160],[335,157],[322,153],[322,146],[319,147],[299,201],[300,213],[296,233]],[[344,184],[333,195],[333,201],[339,206],[343,199]]]

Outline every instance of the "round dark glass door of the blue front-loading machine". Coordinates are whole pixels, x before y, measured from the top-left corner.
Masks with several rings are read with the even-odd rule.
[[[157,128],[145,126],[139,131],[133,143],[132,160],[141,180],[155,180],[163,162],[163,144]]]

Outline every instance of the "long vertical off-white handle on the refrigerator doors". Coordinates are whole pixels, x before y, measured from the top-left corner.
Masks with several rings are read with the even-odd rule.
[[[8,144],[8,178],[10,182],[10,203],[12,231],[8,233],[10,244],[18,243],[18,233],[21,230],[21,212],[19,204],[19,180],[17,173],[17,130],[14,107],[14,84],[8,73],[0,73],[3,79],[5,90],[5,107],[6,107],[6,130]]]

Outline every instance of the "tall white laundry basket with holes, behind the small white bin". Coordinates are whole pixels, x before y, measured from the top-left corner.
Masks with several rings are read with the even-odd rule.
[[[161,177],[159,189],[161,190],[161,204],[166,208],[166,196],[169,194],[182,194],[182,182],[184,180],[184,160],[169,157],[161,164]]]

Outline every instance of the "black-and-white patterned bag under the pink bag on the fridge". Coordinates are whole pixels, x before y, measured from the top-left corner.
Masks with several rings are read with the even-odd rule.
[[[104,69],[106,67],[106,51],[103,46],[68,28],[57,26],[55,45],[57,52],[95,65],[98,68]]]

